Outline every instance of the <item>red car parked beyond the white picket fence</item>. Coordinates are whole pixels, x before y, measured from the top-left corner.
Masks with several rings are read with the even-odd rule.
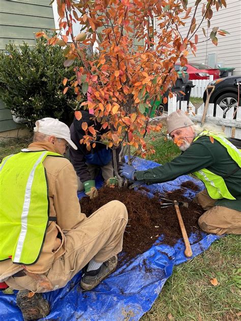
[[[175,71],[182,69],[180,63],[175,64]],[[202,65],[202,63],[190,62],[190,65],[183,67],[183,71],[189,74],[189,80],[209,79],[210,75],[214,76],[214,80],[219,78],[220,70]]]

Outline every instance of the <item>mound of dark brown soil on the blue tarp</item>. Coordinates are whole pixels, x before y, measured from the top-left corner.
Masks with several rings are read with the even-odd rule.
[[[185,187],[193,190],[199,189],[191,181],[185,184]],[[98,192],[98,197],[92,201],[88,197],[83,197],[80,200],[81,209],[86,216],[90,216],[98,208],[112,200],[118,200],[127,207],[129,220],[124,233],[123,251],[125,252],[125,258],[123,260],[132,259],[137,254],[145,252],[157,240],[159,244],[173,246],[178,239],[182,238],[174,206],[161,208],[160,197],[189,203],[188,208],[179,207],[187,234],[190,236],[194,232],[197,234],[196,240],[201,239],[198,218],[203,210],[200,205],[183,196],[183,189],[168,192],[166,195],[156,193],[152,199],[147,197],[145,188],[135,191],[126,188],[110,189],[110,187],[104,186]],[[160,241],[161,235],[164,238]]]

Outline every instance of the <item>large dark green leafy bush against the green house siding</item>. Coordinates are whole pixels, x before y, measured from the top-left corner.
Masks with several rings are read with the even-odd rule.
[[[33,48],[26,43],[20,48],[9,44],[6,51],[0,54],[0,99],[6,107],[27,119],[30,127],[43,117],[69,125],[78,102],[72,88],[63,94],[63,79],[74,73],[63,65],[62,48],[49,46],[41,38]]]

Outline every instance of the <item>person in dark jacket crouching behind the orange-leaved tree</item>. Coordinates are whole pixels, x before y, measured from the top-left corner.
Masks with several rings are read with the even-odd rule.
[[[98,138],[93,141],[96,146],[93,148],[91,144],[91,150],[89,151],[85,144],[80,144],[80,140],[85,135],[85,131],[82,129],[83,122],[86,122],[88,126],[94,125],[99,135],[104,134],[106,131],[101,129],[102,124],[95,119],[94,115],[89,114],[87,111],[81,111],[81,114],[82,118],[80,120],[74,118],[70,126],[71,140],[73,140],[78,149],[74,150],[70,147],[69,156],[77,174],[78,191],[84,190],[85,194],[93,199],[98,196],[95,178],[100,171],[107,183],[116,184],[117,180],[114,178],[112,151],[110,148],[107,149],[106,145],[101,143]]]

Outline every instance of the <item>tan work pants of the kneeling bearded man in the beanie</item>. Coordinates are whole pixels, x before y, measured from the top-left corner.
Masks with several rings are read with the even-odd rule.
[[[204,212],[198,219],[200,228],[211,234],[241,234],[241,212],[224,206],[215,206],[216,200],[204,189],[195,197]]]

